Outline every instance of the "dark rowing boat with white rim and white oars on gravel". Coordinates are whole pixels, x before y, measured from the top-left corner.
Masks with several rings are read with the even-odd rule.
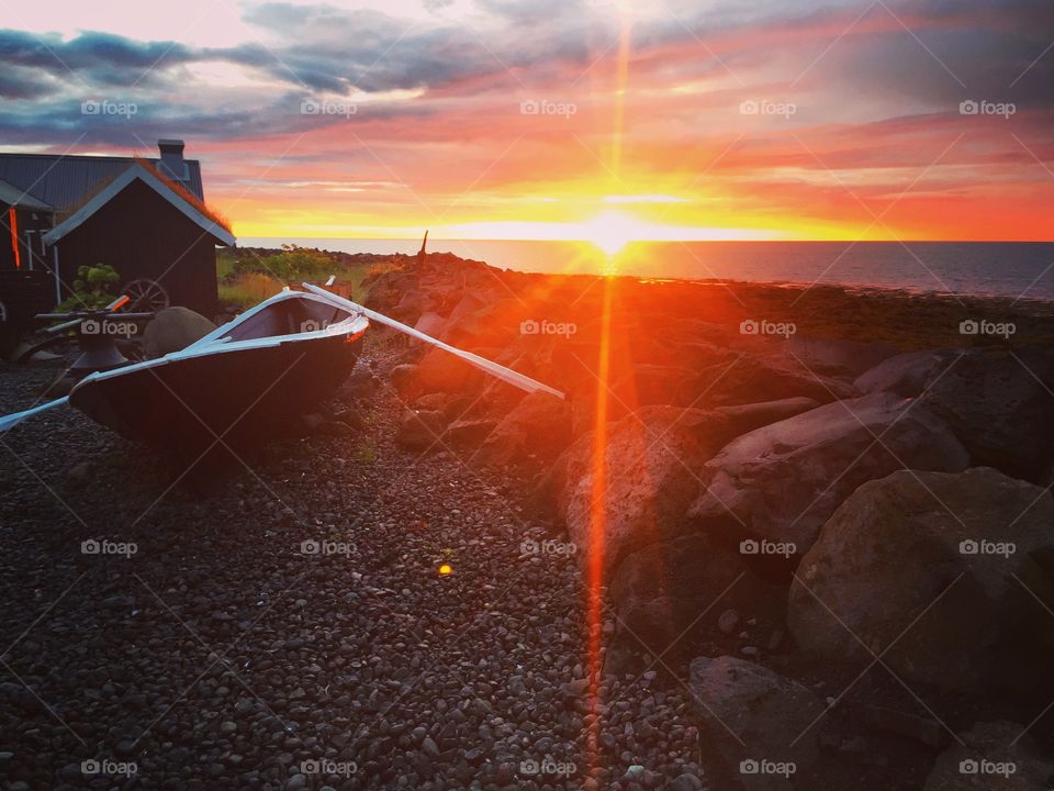
[[[304,283],[284,290],[187,348],[90,374],[67,398],[0,417],[0,432],[69,403],[128,439],[180,456],[267,438],[332,397],[351,369],[370,321],[438,346],[523,390],[563,393],[479,355]]]

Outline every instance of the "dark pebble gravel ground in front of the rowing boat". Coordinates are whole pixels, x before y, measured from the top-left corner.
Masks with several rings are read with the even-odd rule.
[[[54,375],[0,368],[2,411]],[[598,680],[587,754],[583,582],[516,482],[356,406],[210,498],[72,410],[0,437],[0,787],[704,787],[653,671]]]

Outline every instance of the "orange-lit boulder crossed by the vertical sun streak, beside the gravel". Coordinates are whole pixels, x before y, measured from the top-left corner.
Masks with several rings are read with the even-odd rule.
[[[556,466],[553,497],[580,561],[587,564],[591,547],[602,547],[609,572],[629,553],[688,532],[696,470],[732,436],[731,422],[714,412],[646,406],[608,427],[602,459],[595,434],[576,441]],[[604,535],[594,544],[595,521]]]

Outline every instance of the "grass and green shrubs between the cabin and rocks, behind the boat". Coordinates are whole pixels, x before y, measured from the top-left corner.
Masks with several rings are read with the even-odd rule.
[[[280,250],[224,248],[216,254],[220,301],[228,310],[250,308],[283,286],[325,282],[330,275],[340,293],[361,301],[369,291],[362,282],[368,276],[399,266],[389,256],[347,256],[295,245],[282,245]]]

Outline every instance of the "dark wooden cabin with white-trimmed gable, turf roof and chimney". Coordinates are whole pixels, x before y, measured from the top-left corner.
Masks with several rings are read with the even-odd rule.
[[[38,293],[44,272],[49,304],[35,310],[47,310],[69,296],[79,267],[109,264],[135,309],[212,316],[215,248],[236,241],[205,204],[201,165],[183,158],[182,141],[158,148],[152,159],[0,153],[0,303]]]

